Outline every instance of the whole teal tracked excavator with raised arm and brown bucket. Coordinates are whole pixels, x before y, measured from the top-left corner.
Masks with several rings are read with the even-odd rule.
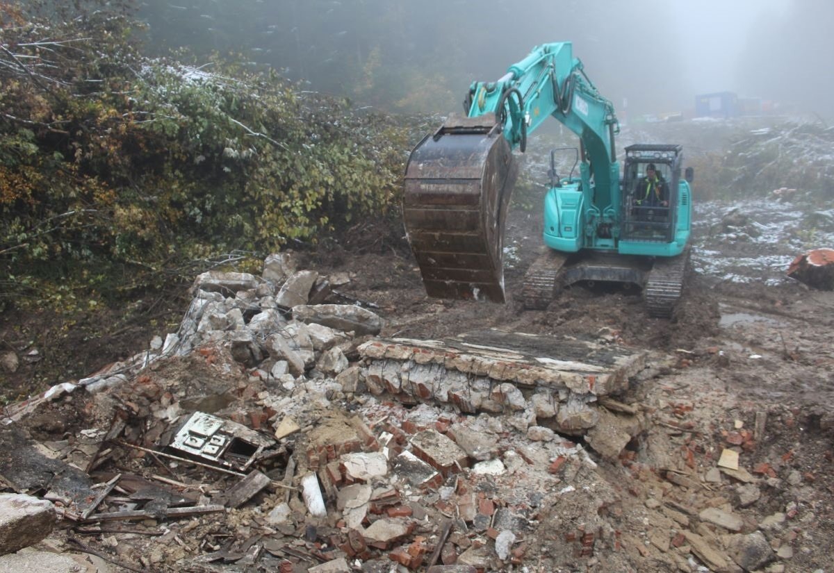
[[[574,167],[561,175],[561,151],[550,152],[547,248],[525,275],[525,308],[546,308],[576,282],[618,282],[641,288],[650,316],[670,318],[682,294],[692,221],[693,171],[681,177],[681,145],[625,147],[620,177],[614,107],[573,57],[571,42],[535,47],[498,81],[473,82],[464,110],[414,147],[405,171],[404,225],[426,293],[505,301],[513,151],[525,152],[528,135],[554,117],[579,137],[579,147]],[[639,191],[650,164],[668,190],[662,204]]]

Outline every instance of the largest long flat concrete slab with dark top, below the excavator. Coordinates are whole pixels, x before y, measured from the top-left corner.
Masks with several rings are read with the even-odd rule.
[[[467,414],[516,411],[509,422],[520,431],[538,423],[577,436],[600,422],[598,398],[625,390],[647,356],[609,343],[495,329],[441,341],[376,339],[359,346],[359,354],[374,395],[450,403]],[[611,423],[592,441],[613,458],[644,421],[608,410],[605,416]],[[555,426],[543,423],[553,418]]]

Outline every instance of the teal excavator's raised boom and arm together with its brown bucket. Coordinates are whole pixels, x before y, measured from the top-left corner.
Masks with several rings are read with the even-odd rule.
[[[467,117],[450,118],[409,157],[404,222],[429,296],[504,301],[503,236],[517,175],[512,150],[555,117],[580,138],[586,221],[619,202],[614,108],[573,57],[570,42],[535,47],[496,82],[475,82]],[[602,206],[600,207],[597,206]]]

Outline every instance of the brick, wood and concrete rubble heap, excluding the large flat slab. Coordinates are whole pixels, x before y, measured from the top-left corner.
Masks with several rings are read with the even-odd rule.
[[[595,461],[536,425],[552,398],[504,382],[505,406],[466,415],[369,393],[358,347],[382,321],[324,304],[331,289],[283,256],[263,277],[201,275],[176,333],[9,406],[0,476],[98,571],[496,571],[613,551]],[[594,376],[624,384],[600,368],[569,384],[587,393]],[[529,540],[556,506],[581,535],[545,551]]]

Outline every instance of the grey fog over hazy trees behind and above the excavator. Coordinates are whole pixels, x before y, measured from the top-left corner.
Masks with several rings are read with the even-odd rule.
[[[834,117],[829,0],[148,0],[140,17],[160,52],[234,51],[389,110],[456,111],[470,82],[570,40],[623,119],[727,91]]]

